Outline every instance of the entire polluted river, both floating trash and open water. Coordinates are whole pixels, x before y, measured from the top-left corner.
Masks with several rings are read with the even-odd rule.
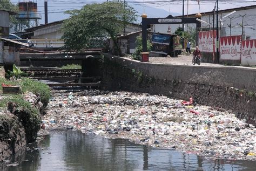
[[[37,143],[2,169],[256,168],[253,125],[232,111],[184,100],[122,91],[53,91]]]

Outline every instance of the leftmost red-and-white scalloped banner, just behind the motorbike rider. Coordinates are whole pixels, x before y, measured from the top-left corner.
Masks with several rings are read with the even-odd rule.
[[[213,34],[214,33],[214,34]],[[200,31],[198,33],[198,47],[201,52],[214,52],[216,51],[216,30]],[[214,35],[214,36],[213,36]],[[214,38],[213,38],[214,37]],[[214,43],[213,43],[214,40]],[[213,46],[215,48],[213,49]]]

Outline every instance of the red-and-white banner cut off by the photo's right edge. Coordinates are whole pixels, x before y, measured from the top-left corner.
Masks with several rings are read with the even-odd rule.
[[[241,64],[256,65],[256,40],[242,40]]]

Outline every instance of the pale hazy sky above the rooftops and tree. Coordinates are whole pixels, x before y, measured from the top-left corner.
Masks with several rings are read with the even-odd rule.
[[[30,0],[37,2],[38,13],[42,15],[40,24],[44,24],[44,0]],[[24,0],[11,0],[12,3],[24,2]],[[26,2],[26,0],[25,0]],[[68,15],[64,15],[66,10],[80,9],[85,4],[100,3],[104,0],[48,0],[49,22],[68,18]],[[167,0],[126,0],[126,3],[133,6],[138,14],[141,15],[144,11],[148,17],[166,17],[169,11],[179,13],[182,15],[182,1],[167,1]],[[188,1],[188,13],[208,12],[214,9],[215,1],[201,1],[200,5],[196,1]],[[185,14],[187,14],[187,1],[184,2]],[[256,1],[241,1],[241,0],[219,0],[219,10],[238,8],[241,6],[256,5]],[[145,6],[145,8],[144,8]],[[161,9],[161,10],[160,10]]]

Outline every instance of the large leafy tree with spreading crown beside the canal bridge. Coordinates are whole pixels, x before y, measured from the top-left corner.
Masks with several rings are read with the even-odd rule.
[[[68,50],[95,47],[108,36],[113,40],[114,46],[118,47],[118,33],[124,25],[137,19],[136,11],[120,2],[87,4],[81,10],[66,13],[71,16],[63,24],[62,39]],[[120,54],[120,49],[118,53]]]

